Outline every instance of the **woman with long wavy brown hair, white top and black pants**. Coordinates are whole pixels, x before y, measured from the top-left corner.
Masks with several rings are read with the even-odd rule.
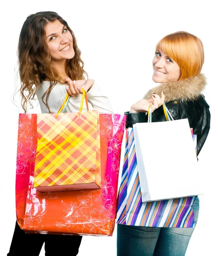
[[[69,25],[56,12],[37,12],[23,24],[18,59],[23,110],[37,94],[42,113],[57,113],[66,93],[72,96],[66,112],[80,108],[82,89],[90,110],[112,113],[109,99],[83,70],[77,41]],[[85,107],[84,107],[85,108]],[[16,223],[8,256],[38,256],[45,242],[46,256],[78,253],[82,236],[27,234]]]

